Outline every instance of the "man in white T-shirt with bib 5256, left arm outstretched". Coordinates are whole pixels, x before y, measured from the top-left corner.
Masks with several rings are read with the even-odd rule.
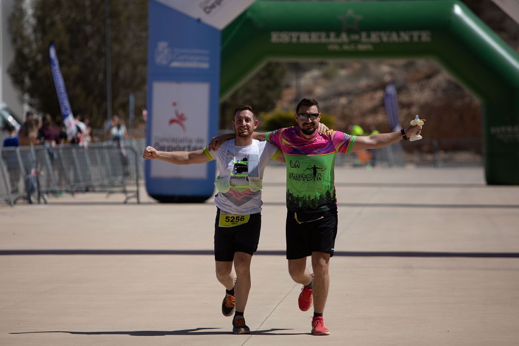
[[[258,125],[252,107],[238,106],[231,125],[236,139],[227,141],[218,149],[206,147],[195,151],[166,152],[148,146],[143,158],[173,164],[211,160],[218,163],[214,259],[216,279],[226,288],[222,313],[224,316],[235,314],[234,334],[249,334],[243,313],[251,288],[251,259],[260,240],[263,172],[270,159],[285,161],[275,145],[252,139]],[[327,128],[322,126],[320,131],[325,130]]]

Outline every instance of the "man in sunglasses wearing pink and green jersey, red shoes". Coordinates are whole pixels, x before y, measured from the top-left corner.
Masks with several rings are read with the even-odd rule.
[[[299,309],[307,311],[313,301],[312,335],[329,335],[330,330],[324,326],[323,312],[330,286],[329,262],[337,235],[335,156],[407,140],[417,127],[370,136],[352,136],[339,131],[319,134],[320,119],[317,101],[303,99],[296,107],[296,127],[255,133],[253,138],[262,139],[264,135],[263,139],[280,148],[285,157],[285,231],[289,273],[295,282],[303,285],[298,298]],[[215,137],[210,146],[221,145],[230,137]],[[306,269],[308,256],[311,256],[312,274]]]

